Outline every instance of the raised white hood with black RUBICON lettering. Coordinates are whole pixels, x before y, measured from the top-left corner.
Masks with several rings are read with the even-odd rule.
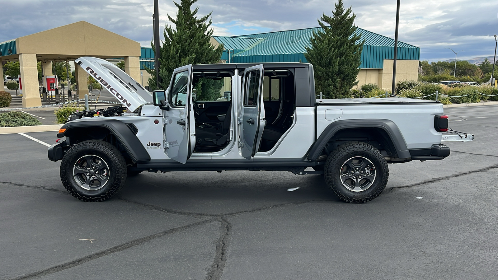
[[[152,102],[150,92],[111,62],[88,56],[75,62],[130,111],[135,112],[141,105]]]

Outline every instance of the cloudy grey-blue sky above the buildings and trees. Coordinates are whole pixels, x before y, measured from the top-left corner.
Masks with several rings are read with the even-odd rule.
[[[344,0],[355,24],[394,38],[396,0]],[[215,35],[244,35],[318,26],[331,14],[326,0],[199,0],[199,15],[211,11]],[[160,26],[176,7],[159,0]],[[13,0],[1,4],[0,42],[86,20],[150,46],[153,0]],[[401,0],[399,40],[421,48],[421,60],[492,56],[498,33],[498,0]],[[162,35],[161,35],[162,36]],[[102,38],[105,40],[105,38]],[[68,34],[70,40],[70,34]]]

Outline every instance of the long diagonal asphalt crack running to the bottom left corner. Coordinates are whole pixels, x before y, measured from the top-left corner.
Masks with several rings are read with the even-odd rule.
[[[126,243],[123,243],[123,244],[111,247],[111,248],[106,249],[104,251],[100,251],[100,252],[97,252],[97,253],[85,256],[83,258],[76,259],[76,260],[71,261],[71,262],[67,262],[67,263],[64,263],[64,264],[61,264],[61,265],[57,265],[57,266],[53,266],[53,267],[50,267],[50,268],[47,268],[47,269],[43,269],[43,270],[40,270],[40,271],[37,271],[37,272],[34,272],[34,273],[30,273],[28,275],[24,275],[24,276],[21,276],[21,277],[12,278],[11,280],[24,280],[24,279],[31,279],[31,278],[35,278],[35,277],[41,277],[41,276],[45,276],[45,275],[54,274],[54,273],[57,273],[57,272],[60,272],[60,271],[63,271],[63,270],[69,269],[69,268],[73,268],[73,267],[82,265],[84,263],[88,263],[90,261],[93,261],[95,259],[107,256],[107,255],[110,255],[110,254],[121,252],[121,251],[126,250],[128,248],[135,247],[137,245],[140,245],[142,243],[151,241],[151,240],[159,238],[159,237],[163,237],[163,236],[166,236],[166,235],[169,235],[169,234],[173,234],[173,233],[176,233],[176,232],[179,232],[179,231],[182,231],[182,230],[186,230],[186,229],[189,229],[189,228],[193,228],[193,227],[196,227],[196,226],[199,226],[199,225],[208,224],[208,223],[211,223],[211,222],[214,222],[214,221],[216,221],[216,219],[209,219],[209,220],[199,221],[199,222],[195,222],[195,223],[192,223],[192,224],[188,224],[188,225],[184,225],[184,226],[180,226],[180,227],[168,229],[168,230],[165,230],[165,231],[162,231],[162,232],[151,234],[151,235],[148,235],[148,236],[145,236],[145,237],[142,237],[142,238],[138,238],[138,239],[135,239],[135,240],[132,240],[132,241],[129,241],[129,242],[126,242]]]

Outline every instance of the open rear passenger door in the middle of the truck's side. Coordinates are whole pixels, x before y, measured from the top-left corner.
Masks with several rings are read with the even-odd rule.
[[[263,64],[246,68],[242,79],[243,106],[239,116],[242,156],[250,159],[259,150],[266,121],[263,105]]]

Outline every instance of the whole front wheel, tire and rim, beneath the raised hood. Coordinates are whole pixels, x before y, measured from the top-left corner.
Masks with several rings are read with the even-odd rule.
[[[126,160],[112,144],[86,140],[72,146],[61,161],[60,176],[66,190],[79,200],[109,199],[124,185]]]

